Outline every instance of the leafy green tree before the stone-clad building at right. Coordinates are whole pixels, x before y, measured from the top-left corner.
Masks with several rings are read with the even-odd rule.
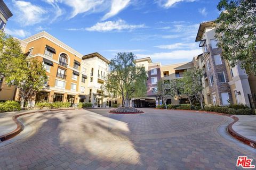
[[[195,67],[192,69],[187,70],[184,73],[183,82],[184,82],[184,91],[185,94],[191,96],[195,96],[197,100],[201,104],[201,108],[204,108],[203,105],[203,70],[196,69]],[[190,101],[191,104],[191,101]]]

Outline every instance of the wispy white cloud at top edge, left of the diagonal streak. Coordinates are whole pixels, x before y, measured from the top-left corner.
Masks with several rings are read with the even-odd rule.
[[[61,0],[61,2],[73,8],[73,12],[69,16],[69,18],[73,18],[77,14],[95,11],[99,5],[103,4],[104,0]]]

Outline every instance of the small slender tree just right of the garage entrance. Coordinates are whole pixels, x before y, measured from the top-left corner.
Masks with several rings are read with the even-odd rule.
[[[167,97],[171,96],[170,88],[171,88],[170,83],[167,81],[160,80],[157,82],[157,96],[162,98],[166,109],[167,109],[167,105],[166,105]]]

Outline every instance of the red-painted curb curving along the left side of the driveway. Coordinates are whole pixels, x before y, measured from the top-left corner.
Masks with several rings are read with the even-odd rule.
[[[81,108],[77,108],[77,109],[81,109]],[[44,110],[44,111],[35,111],[35,112],[29,112],[29,113],[22,113],[22,114],[18,114],[15,116],[12,116],[12,120],[17,124],[17,128],[13,131],[11,131],[10,133],[4,134],[0,136],[0,142],[3,142],[5,140],[11,139],[13,137],[15,137],[16,135],[18,135],[21,131],[23,131],[24,126],[23,124],[18,120],[18,117],[23,116],[23,115],[27,115],[27,114],[32,114],[32,113],[42,113],[42,112],[51,112],[51,111],[67,111],[67,110],[75,110],[75,108],[69,108],[69,109],[49,109],[49,110]]]

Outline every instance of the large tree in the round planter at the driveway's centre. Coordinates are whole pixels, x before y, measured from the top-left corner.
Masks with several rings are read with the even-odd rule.
[[[125,107],[129,107],[132,97],[142,97],[147,91],[145,67],[136,66],[135,57],[132,53],[117,53],[109,64],[106,89],[121,96]]]

